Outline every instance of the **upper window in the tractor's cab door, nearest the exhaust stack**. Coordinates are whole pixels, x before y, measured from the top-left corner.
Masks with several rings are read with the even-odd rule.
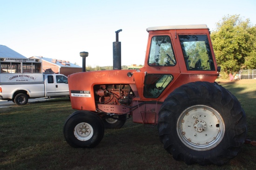
[[[170,37],[153,37],[148,58],[148,65],[150,66],[174,66],[176,61]]]

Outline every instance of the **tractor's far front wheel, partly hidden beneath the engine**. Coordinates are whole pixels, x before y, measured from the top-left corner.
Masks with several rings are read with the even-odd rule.
[[[115,119],[117,118],[117,119]],[[120,116],[113,116],[113,118],[107,118],[102,120],[105,128],[107,129],[119,129],[121,128],[126,122],[126,114]]]

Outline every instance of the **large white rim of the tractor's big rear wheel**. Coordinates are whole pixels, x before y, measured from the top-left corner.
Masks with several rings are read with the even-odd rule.
[[[205,105],[185,109],[177,120],[177,133],[187,147],[206,151],[218,145],[224,136],[225,125],[220,113]]]

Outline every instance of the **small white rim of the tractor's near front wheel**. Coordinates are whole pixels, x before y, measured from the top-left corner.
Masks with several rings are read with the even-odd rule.
[[[85,122],[79,123],[74,128],[74,136],[76,139],[81,141],[86,141],[91,139],[93,136],[94,130],[93,127]]]

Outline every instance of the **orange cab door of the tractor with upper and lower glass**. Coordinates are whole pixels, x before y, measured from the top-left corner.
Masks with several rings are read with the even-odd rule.
[[[145,61],[147,72],[143,82],[143,97],[159,99],[180,74],[170,34],[151,35]],[[149,45],[149,44],[148,44]]]

